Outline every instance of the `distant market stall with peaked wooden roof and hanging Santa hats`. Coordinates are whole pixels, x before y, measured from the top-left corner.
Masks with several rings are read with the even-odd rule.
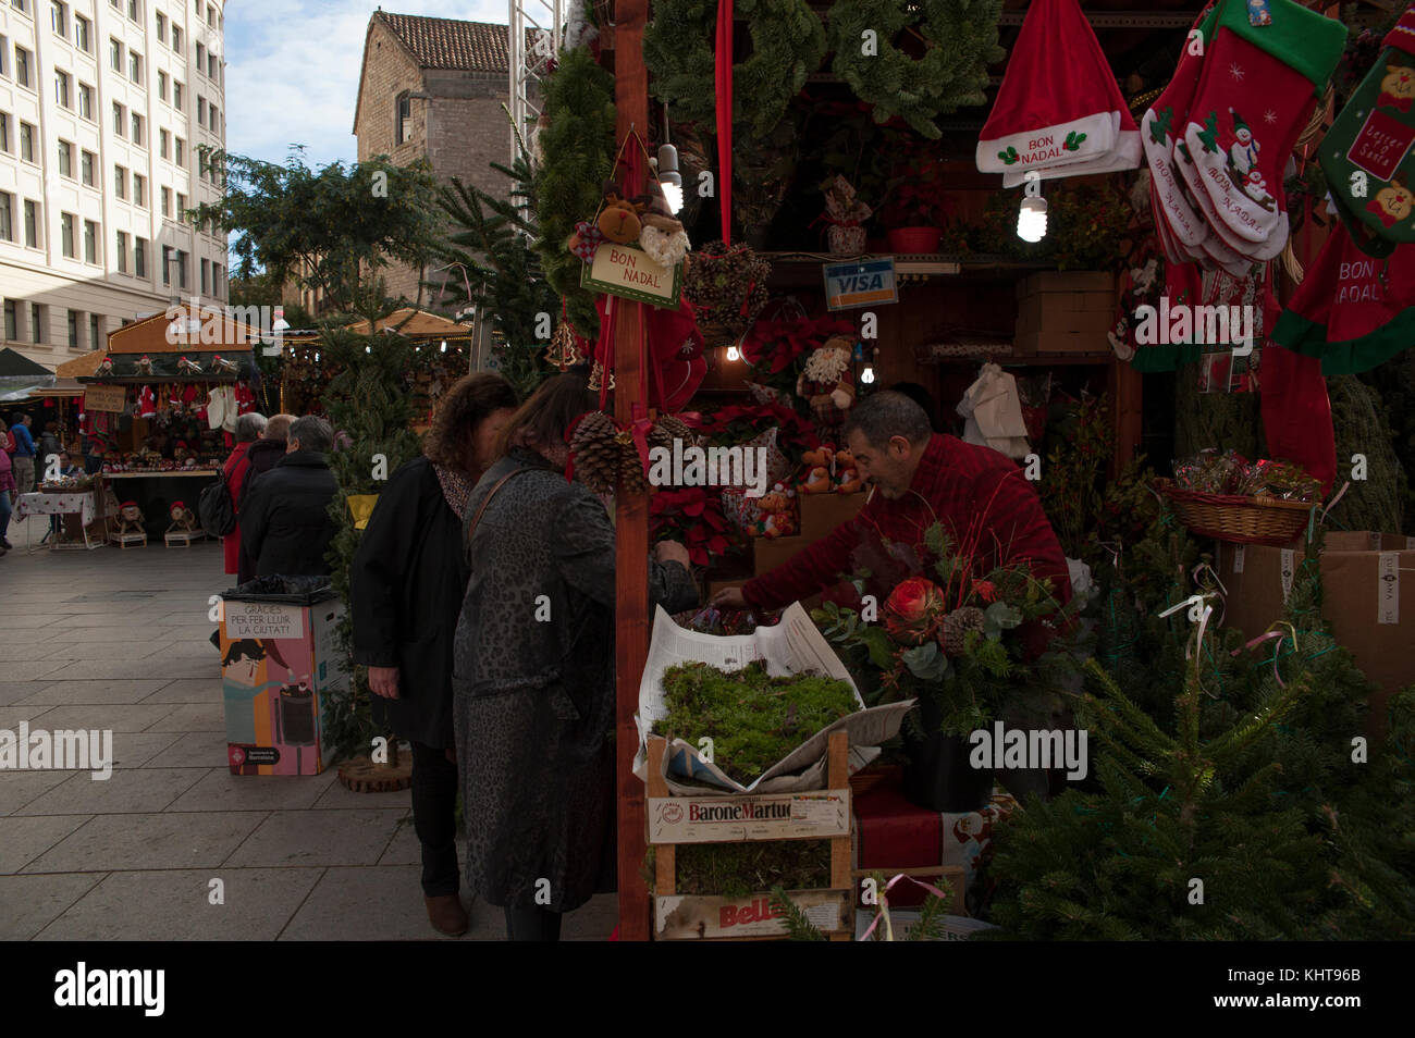
[[[255,409],[258,335],[219,311],[174,305],[112,332],[92,373],[76,378],[89,457],[150,540],[163,542],[178,503],[195,508],[235,444],[236,419]]]

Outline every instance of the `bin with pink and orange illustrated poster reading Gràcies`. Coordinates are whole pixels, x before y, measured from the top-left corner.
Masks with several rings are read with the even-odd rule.
[[[342,605],[225,600],[221,684],[232,775],[318,775],[321,696],[344,686],[334,652]]]

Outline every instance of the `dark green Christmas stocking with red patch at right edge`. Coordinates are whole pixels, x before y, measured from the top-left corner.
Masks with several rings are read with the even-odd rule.
[[[1319,154],[1343,222],[1367,252],[1388,256],[1415,242],[1415,6],[1381,48]]]

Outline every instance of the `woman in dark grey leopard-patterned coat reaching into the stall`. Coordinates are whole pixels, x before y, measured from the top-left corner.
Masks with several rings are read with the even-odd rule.
[[[565,478],[565,433],[593,407],[577,375],[542,385],[467,502],[453,680],[467,882],[505,908],[511,940],[556,940],[616,846],[614,527]],[[648,568],[649,602],[696,604],[682,544],[620,563]]]

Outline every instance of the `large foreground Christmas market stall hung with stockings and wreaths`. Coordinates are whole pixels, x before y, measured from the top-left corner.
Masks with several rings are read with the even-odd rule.
[[[908,11],[886,4],[896,21],[880,31],[877,6],[848,0],[829,6],[824,25],[825,8],[794,3],[734,16],[727,6],[715,14],[712,6],[621,0],[613,20],[596,4],[572,17],[541,119],[538,252],[562,297],[549,356],[562,368],[591,363],[591,385],[606,390],[603,413],[582,421],[572,447],[582,479],[618,489],[620,557],[641,557],[648,542],[671,536],[689,546],[709,588],[720,590],[801,556],[863,506],[839,430],[850,409],[882,387],[900,386],[925,407],[935,433],[1006,455],[1033,484],[1065,553],[1075,591],[1067,608],[1084,611],[1099,636],[1094,651],[1054,642],[1057,652],[1047,655],[1085,667],[1088,687],[1112,704],[1085,721],[1126,752],[1108,758],[1102,779],[1090,772],[1085,786],[1084,750],[1075,766],[1067,757],[1064,768],[1043,768],[1032,792],[1071,799],[1054,812],[1044,803],[1029,810],[1029,843],[999,847],[1002,867],[986,882],[979,870],[992,854],[993,824],[1015,807],[993,789],[993,772],[1013,765],[1000,731],[985,766],[964,761],[958,740],[990,734],[1022,693],[1040,690],[1047,694],[1039,708],[1064,706],[1054,714],[1043,708],[1044,730],[1077,734],[1070,711],[1082,708],[1080,672],[1063,687],[1033,666],[1033,649],[1012,634],[1033,621],[1065,628],[1070,617],[1040,612],[1046,595],[1007,567],[959,577],[978,546],[935,536],[928,552],[913,546],[920,550],[904,560],[911,576],[904,566],[869,608],[826,602],[809,619],[849,663],[866,704],[917,696],[924,718],[906,725],[903,757],[853,769],[849,791],[838,771],[829,782],[855,816],[857,870],[897,880],[962,867],[966,911],[988,915],[996,895],[992,922],[1019,936],[1312,935],[1315,915],[1295,918],[1271,905],[1255,909],[1261,923],[1245,921],[1251,929],[1225,931],[1230,923],[1207,918],[1186,929],[1179,912],[1146,921],[1139,901],[1068,921],[1064,912],[1024,911],[1019,892],[1058,861],[1125,867],[1114,864],[1119,858],[1094,863],[1085,840],[1108,846],[1114,836],[1098,826],[1111,833],[1128,824],[1122,819],[1138,791],[1155,802],[1162,843],[1203,844],[1208,860],[1227,861],[1214,833],[1191,830],[1196,812],[1234,824],[1255,816],[1244,813],[1249,803],[1196,775],[1197,751],[1186,740],[1200,728],[1214,733],[1215,766],[1232,789],[1271,779],[1254,771],[1252,757],[1231,752],[1240,741],[1234,717],[1255,714],[1268,725],[1266,759],[1289,769],[1264,802],[1269,810],[1310,799],[1315,779],[1293,779],[1313,775],[1303,771],[1310,761],[1298,764],[1305,740],[1330,748],[1340,724],[1384,721],[1388,711],[1390,724],[1409,730],[1409,703],[1398,689],[1415,682],[1415,672],[1404,663],[1387,669],[1408,653],[1354,628],[1337,641],[1358,651],[1361,666],[1332,653],[1336,641],[1313,602],[1322,580],[1360,574],[1361,617],[1377,608],[1370,622],[1398,636],[1398,604],[1380,612],[1370,581],[1378,566],[1398,578],[1404,553],[1391,535],[1407,533],[1409,522],[1398,508],[1364,522],[1375,502],[1394,501],[1395,477],[1374,486],[1364,470],[1392,437],[1367,417],[1378,414],[1370,404],[1351,450],[1340,440],[1350,436],[1343,423],[1333,436],[1337,383],[1329,406],[1322,366],[1364,371],[1409,344],[1404,332],[1415,311],[1405,276],[1415,264],[1398,266],[1399,250],[1411,247],[1402,222],[1408,199],[1397,184],[1405,160],[1380,146],[1407,140],[1408,130],[1382,123],[1385,136],[1374,137],[1358,117],[1385,98],[1390,119],[1408,123],[1395,115],[1408,109],[1398,96],[1408,79],[1397,75],[1392,85],[1384,69],[1405,62],[1411,25],[1392,28],[1399,11],[1343,13],[1343,24],[1334,8],[1323,16],[1283,0],[1201,7],[1163,3],[1105,21],[1074,0],[1006,11],[1000,3],[941,0]],[[1262,33],[1274,24],[1281,31]],[[1373,33],[1356,42],[1378,24],[1391,33],[1384,51]],[[862,33],[879,38],[856,55]],[[934,89],[899,91],[900,76],[910,75],[924,75]],[[1364,107],[1353,100],[1350,115],[1341,112],[1361,91]],[[613,129],[599,117],[608,105]],[[978,117],[941,117],[958,109]],[[1337,177],[1340,195],[1365,177],[1380,181],[1358,195],[1364,201],[1337,197],[1339,222],[1317,211],[1323,181],[1313,174],[1333,116],[1332,132],[1360,146],[1343,146],[1337,161],[1320,156],[1320,167],[1332,167],[1327,182]],[[1283,198],[1293,170],[1302,187]],[[1380,199],[1377,187],[1385,192]],[[1330,226],[1337,240],[1322,250]],[[1303,267],[1310,280],[1295,293]],[[1289,308],[1279,321],[1283,301]],[[1269,335],[1320,363],[1286,356]],[[1350,383],[1341,392],[1368,399]],[[655,479],[649,451],[669,444],[675,460],[688,447],[761,451],[767,492]],[[1334,458],[1356,465],[1344,501]],[[1360,535],[1368,537],[1364,557],[1340,539],[1323,556],[1322,532],[1341,526],[1377,530]],[[1266,600],[1252,602],[1252,581],[1235,576],[1245,552],[1265,574],[1278,574],[1279,597],[1264,578]],[[842,576],[866,585],[899,561],[850,557]],[[713,766],[713,741],[740,733],[724,731],[722,721],[703,733],[637,727],[637,710],[647,720],[641,683],[671,676],[645,670],[654,625],[640,567],[620,568],[616,615],[620,938],[702,935],[713,919],[720,933],[729,918],[749,923],[739,933],[768,919],[775,922],[766,931],[797,932],[794,909],[775,897],[768,905],[760,885],[747,901],[713,901],[722,912],[713,919],[703,905],[692,919],[665,919],[658,909],[672,911],[668,902],[649,898],[645,827],[662,836],[664,826],[691,817],[686,802],[674,799],[683,796],[672,789],[675,775],[700,779]],[[726,645],[774,626],[777,617],[705,611],[678,622]],[[708,663],[717,649],[699,652],[688,658]],[[751,658],[739,646],[739,663]],[[1295,689],[1313,686],[1341,692],[1324,711],[1295,707]],[[1402,701],[1407,714],[1397,713]],[[1278,727],[1283,710],[1299,710],[1302,720]],[[1138,723],[1142,714],[1153,721]],[[940,744],[945,733],[955,740],[952,752]],[[681,745],[652,741],[675,734]],[[706,752],[699,734],[709,737]],[[1156,762],[1163,781],[1131,775],[1136,758]],[[1380,782],[1408,788],[1408,774],[1392,778],[1402,766],[1385,755],[1361,778],[1343,774],[1333,796],[1358,813],[1364,796],[1378,798]],[[1177,800],[1173,791],[1182,791]],[[700,803],[739,819],[773,810],[730,783]],[[1077,826],[1068,810],[1087,822]],[[1380,816],[1361,817],[1378,841]],[[1312,819],[1302,824],[1312,834]],[[828,826],[812,832],[838,836]],[[655,840],[655,850],[668,849],[648,858],[659,894],[685,892],[689,856],[678,844],[695,840],[710,841],[676,827]],[[1143,834],[1125,847],[1125,857],[1153,857]],[[1262,854],[1292,863],[1298,847],[1274,836]],[[1382,844],[1388,857],[1401,853]],[[720,880],[724,861],[699,857],[698,875]],[[791,861],[801,863],[782,861],[787,871],[778,875],[819,880],[801,884],[812,890],[797,908],[829,914],[833,901],[822,891],[839,885],[838,857],[816,861],[814,873],[791,873]],[[1336,851],[1324,863],[1333,874],[1365,875],[1360,861]],[[1265,868],[1234,868],[1245,897],[1265,901]],[[1065,884],[1065,898],[1087,904],[1094,895],[1081,868]],[[1399,932],[1394,915],[1343,902],[1324,887],[1312,898],[1322,899],[1327,925]],[[829,918],[825,929],[835,936],[843,921]]]

